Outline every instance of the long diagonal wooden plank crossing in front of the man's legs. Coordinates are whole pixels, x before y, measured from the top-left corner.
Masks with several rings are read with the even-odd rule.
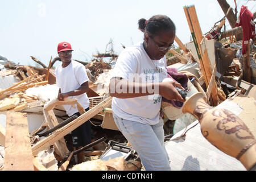
[[[108,107],[112,104],[112,97],[106,98],[106,100],[102,101],[100,104],[94,106],[86,113],[80,115],[77,119],[73,120],[72,122],[68,123],[67,125],[61,127],[60,129],[56,130],[55,133],[49,135],[47,138],[40,140],[34,146],[32,146],[32,154],[36,155],[39,151],[46,149],[47,147],[51,146],[60,138],[63,138],[65,135],[71,133],[71,131],[75,130],[77,127],[85,123],[94,115],[100,113],[100,111],[104,110],[105,107]]]

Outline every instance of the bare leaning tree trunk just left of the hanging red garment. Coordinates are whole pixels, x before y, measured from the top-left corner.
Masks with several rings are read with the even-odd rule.
[[[219,5],[221,6],[222,11],[226,15],[226,13],[228,12],[228,10],[230,8],[229,4],[226,2],[226,0],[217,0],[217,1],[218,1]],[[228,19],[230,26],[232,28],[234,28],[235,23],[237,21],[237,17],[234,14],[233,10],[229,11],[229,14],[226,15],[226,18]],[[242,33],[236,34],[236,40],[242,40],[242,39],[243,39]]]

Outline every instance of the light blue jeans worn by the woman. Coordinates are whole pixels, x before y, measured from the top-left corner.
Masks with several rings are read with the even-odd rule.
[[[113,113],[115,125],[138,153],[147,171],[171,170],[169,157],[164,147],[163,119],[156,125],[119,118]]]

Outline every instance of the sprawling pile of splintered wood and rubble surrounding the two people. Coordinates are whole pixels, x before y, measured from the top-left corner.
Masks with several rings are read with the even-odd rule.
[[[202,92],[210,106],[238,96],[247,97],[255,103],[255,42],[250,41],[247,54],[242,54],[241,34],[244,30],[232,25],[232,30],[221,31],[226,19],[234,24],[230,9],[222,9],[224,18],[203,35],[195,6],[184,7],[193,42],[183,44],[175,36],[179,49],[170,50],[167,68],[176,68],[179,73],[187,75],[188,96]],[[90,63],[76,60],[85,66],[90,80],[87,92],[90,110],[85,113],[75,99],[56,99],[59,88],[55,84],[53,64],[60,61],[59,57],[51,59],[47,67],[31,56],[32,60],[42,65],[43,68],[39,68],[17,65],[0,56],[0,170],[143,169],[137,152],[119,132],[112,115],[108,85],[113,66],[102,58],[111,57],[112,61],[116,61],[118,55],[98,53],[94,57],[98,59]],[[69,118],[64,104],[77,105],[81,116]],[[249,107],[246,109],[247,113],[251,113]],[[162,102],[161,110],[166,141],[195,122],[191,115],[165,102]],[[88,120],[92,123],[96,141],[79,150],[84,151],[85,160],[76,165],[79,151],[71,152],[70,133]],[[256,131],[254,126],[250,126],[253,134]],[[94,146],[99,150],[94,150]]]

